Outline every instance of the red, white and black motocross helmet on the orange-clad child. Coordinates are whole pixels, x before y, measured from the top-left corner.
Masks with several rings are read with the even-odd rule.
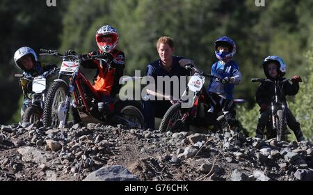
[[[103,42],[102,36],[111,36],[111,42]],[[102,26],[96,33],[96,42],[102,52],[109,53],[118,46],[118,30],[110,25]]]

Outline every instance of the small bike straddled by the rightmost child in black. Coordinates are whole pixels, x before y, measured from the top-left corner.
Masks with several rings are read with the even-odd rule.
[[[291,81],[291,79],[284,79],[282,81],[272,81],[270,79],[264,78],[256,78],[251,79],[251,82],[269,82],[275,86],[275,92],[273,96],[273,100],[271,100],[271,115],[268,118],[268,123],[266,124],[264,138],[271,139],[276,137],[278,141],[283,141],[285,139],[285,134],[287,132],[287,103],[282,101],[286,100],[285,95],[282,93],[282,89],[280,88],[280,84]]]

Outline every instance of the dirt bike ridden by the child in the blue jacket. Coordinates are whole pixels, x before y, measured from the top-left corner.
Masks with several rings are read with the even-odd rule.
[[[214,75],[207,75],[206,73],[194,68],[192,65],[186,65],[186,69],[191,69],[193,75],[188,81],[188,85],[183,95],[179,100],[173,104],[166,114],[164,114],[159,130],[161,132],[171,131],[180,132],[182,130],[188,131],[190,125],[195,127],[208,129],[209,126],[214,126],[214,130],[223,130],[227,126],[222,110],[216,110],[213,113],[209,112],[211,105],[209,105],[209,94],[204,88],[204,81],[206,77],[213,78],[221,82],[222,79]],[[186,97],[192,95],[192,98],[186,102]],[[185,97],[185,98],[184,98]],[[220,97],[225,98],[220,95]],[[236,99],[234,103],[242,103],[245,100]],[[182,104],[188,103],[189,107],[184,108]]]

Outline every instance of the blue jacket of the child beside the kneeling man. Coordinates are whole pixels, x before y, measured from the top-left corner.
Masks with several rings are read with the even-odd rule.
[[[220,82],[215,81],[215,79],[211,79],[211,83],[209,84],[207,91],[211,93],[218,93],[220,95],[225,96],[228,100],[233,100],[233,90],[234,85],[239,84],[241,81],[241,72],[239,72],[239,66],[235,61],[229,61],[225,63],[221,63],[218,61],[212,65],[211,75],[224,79],[225,77],[232,77],[233,82],[230,84],[221,84]]]

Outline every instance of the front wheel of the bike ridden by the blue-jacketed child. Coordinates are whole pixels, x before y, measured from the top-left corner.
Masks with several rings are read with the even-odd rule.
[[[183,130],[184,126],[186,126],[186,118],[184,119],[183,117],[182,104],[179,102],[173,104],[164,114],[159,130],[161,132],[179,132]]]

